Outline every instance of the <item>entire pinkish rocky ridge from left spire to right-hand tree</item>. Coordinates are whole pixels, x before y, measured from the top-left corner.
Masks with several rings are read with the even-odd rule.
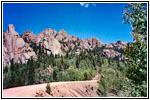
[[[107,58],[125,59],[122,52],[127,42],[117,41],[116,43],[103,44],[96,38],[82,40],[67,34],[65,30],[56,32],[50,28],[34,35],[31,31],[25,31],[21,37],[15,31],[13,25],[8,26],[7,32],[4,32],[3,59],[4,66],[14,62],[27,62],[31,56],[37,58],[33,49],[29,46],[31,42],[41,45],[44,52],[53,55],[63,55],[64,52],[79,54],[85,50],[95,50],[100,48],[100,55]]]

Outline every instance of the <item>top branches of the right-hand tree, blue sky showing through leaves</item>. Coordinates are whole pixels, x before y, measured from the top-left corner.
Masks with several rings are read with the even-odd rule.
[[[125,7],[124,23],[131,24],[133,34],[141,35],[147,40],[147,4],[130,3]]]

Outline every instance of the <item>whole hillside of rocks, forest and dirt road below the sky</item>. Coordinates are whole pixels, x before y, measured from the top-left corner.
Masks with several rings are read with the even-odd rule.
[[[123,55],[127,44],[103,44],[96,38],[82,40],[50,28],[38,35],[25,31],[19,36],[10,24],[4,32],[4,96],[35,96],[45,91],[48,82],[52,92],[43,92],[44,96],[119,96],[127,80]]]

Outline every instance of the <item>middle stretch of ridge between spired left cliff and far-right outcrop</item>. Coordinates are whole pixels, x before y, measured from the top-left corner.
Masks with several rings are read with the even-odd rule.
[[[65,30],[60,30],[56,33],[55,30],[50,28],[40,32],[37,36],[34,36],[30,31],[26,31],[22,34],[22,37],[28,43],[35,40],[37,45],[42,45],[47,54],[52,53],[53,55],[63,55],[63,52],[68,51],[78,54],[80,51],[93,50],[95,47],[102,46],[102,42],[96,38],[82,40],[68,35]]]

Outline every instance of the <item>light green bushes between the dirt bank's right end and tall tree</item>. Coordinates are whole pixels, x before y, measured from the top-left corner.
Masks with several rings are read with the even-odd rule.
[[[101,75],[102,77],[98,82],[98,92],[101,93],[101,96],[107,96],[107,92],[119,95],[119,91],[124,91],[124,85],[128,85],[126,77],[118,70],[103,68]]]

